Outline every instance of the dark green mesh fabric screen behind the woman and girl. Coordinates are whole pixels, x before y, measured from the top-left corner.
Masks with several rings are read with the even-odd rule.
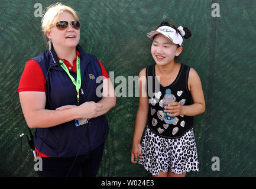
[[[46,50],[40,17],[34,17],[38,1],[7,1],[0,5],[0,176],[34,177],[33,155],[18,98],[18,83],[30,58]],[[56,1],[40,2],[45,9]],[[187,177],[255,177],[255,35],[254,0],[83,0],[60,1],[77,11],[82,27],[80,45],[94,54],[115,77],[138,76],[153,64],[147,32],[161,21],[190,28],[179,61],[199,74],[206,112],[195,118],[199,172]],[[221,17],[213,18],[213,3]],[[115,87],[119,83],[115,83]],[[127,90],[128,91],[128,90]],[[127,93],[128,95],[128,93]],[[118,97],[106,114],[109,136],[98,177],[150,177],[142,165],[130,162],[138,97]],[[212,171],[212,157],[220,170]]]

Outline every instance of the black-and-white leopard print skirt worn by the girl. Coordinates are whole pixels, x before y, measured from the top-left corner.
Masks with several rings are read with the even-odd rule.
[[[193,129],[180,138],[170,139],[156,135],[147,127],[141,142],[140,164],[152,175],[160,171],[183,174],[199,171],[196,142]]]

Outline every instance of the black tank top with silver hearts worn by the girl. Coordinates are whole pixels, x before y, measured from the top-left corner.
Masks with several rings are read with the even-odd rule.
[[[163,87],[157,78],[155,78],[155,64],[146,68],[146,91],[149,102],[148,127],[159,136],[164,138],[179,138],[193,128],[193,116],[176,116],[176,121],[168,125],[164,122],[163,113],[163,97],[166,94],[166,89],[171,89],[171,94],[175,96],[176,102],[179,102],[181,105],[192,104],[192,96],[187,84],[189,70],[189,66],[181,64],[174,82],[167,87]]]

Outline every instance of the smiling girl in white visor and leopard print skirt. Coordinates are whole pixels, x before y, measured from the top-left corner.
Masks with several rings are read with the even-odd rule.
[[[144,165],[153,177],[184,177],[186,172],[198,171],[193,116],[205,112],[202,84],[194,69],[174,60],[182,53],[183,38],[191,35],[188,28],[176,28],[168,22],[161,22],[147,34],[153,38],[151,54],[155,64],[139,74],[140,104],[131,162]],[[171,90],[176,102],[163,107],[166,89]],[[174,123],[164,122],[165,113],[175,117]]]

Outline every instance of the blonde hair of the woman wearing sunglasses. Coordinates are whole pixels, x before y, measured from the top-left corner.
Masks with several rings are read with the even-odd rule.
[[[53,4],[47,7],[46,13],[44,14],[41,20],[41,28],[44,32],[45,37],[47,32],[51,30],[51,27],[53,26],[56,18],[63,12],[69,12],[70,14],[73,15],[74,18],[76,18],[77,21],[80,22],[76,14],[76,11],[74,11],[74,9],[57,2],[56,4]]]

